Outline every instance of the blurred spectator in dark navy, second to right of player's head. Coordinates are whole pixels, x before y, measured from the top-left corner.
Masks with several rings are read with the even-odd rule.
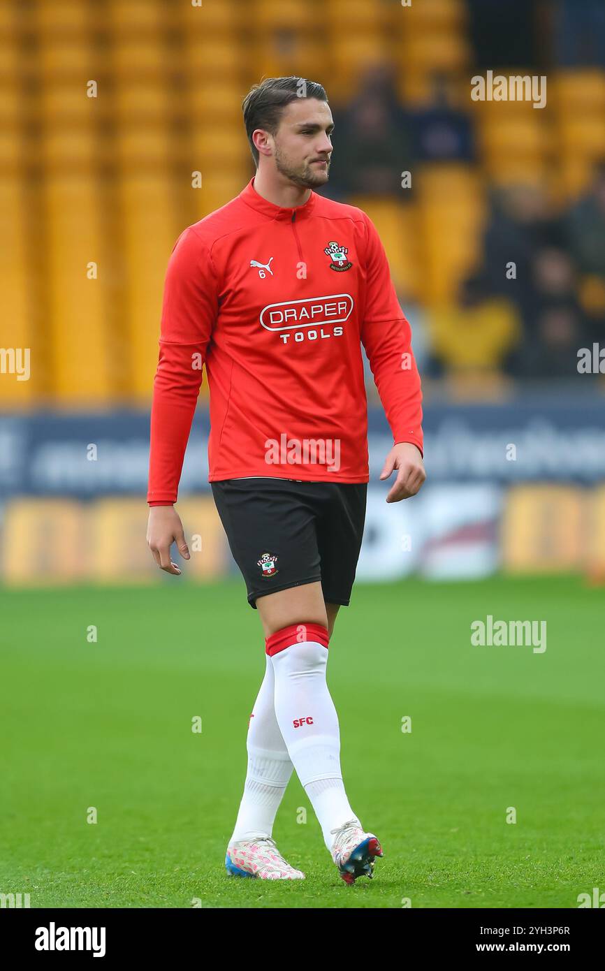
[[[471,122],[454,106],[446,75],[439,72],[432,76],[431,100],[411,116],[411,126],[417,161],[474,161]]]

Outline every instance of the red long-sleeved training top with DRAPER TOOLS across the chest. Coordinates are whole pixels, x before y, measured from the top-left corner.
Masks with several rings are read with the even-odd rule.
[[[363,344],[393,442],[422,451],[420,377],[370,218],[254,180],[181,234],[164,288],[148,502],[175,502],[206,363],[209,482],[368,482]]]

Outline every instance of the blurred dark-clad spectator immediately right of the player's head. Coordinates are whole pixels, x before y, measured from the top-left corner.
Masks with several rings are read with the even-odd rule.
[[[411,170],[412,151],[404,119],[392,69],[372,68],[347,111],[334,112],[332,197],[391,194],[407,201],[412,193],[402,190],[401,173]]]

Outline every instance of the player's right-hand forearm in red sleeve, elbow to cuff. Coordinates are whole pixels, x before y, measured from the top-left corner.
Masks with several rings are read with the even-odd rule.
[[[408,321],[368,324],[364,338],[393,443],[410,442],[422,452],[422,392]]]

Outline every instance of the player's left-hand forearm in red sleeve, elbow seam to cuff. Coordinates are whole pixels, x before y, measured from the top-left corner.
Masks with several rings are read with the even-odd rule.
[[[177,501],[201,384],[201,369],[192,367],[194,353],[193,345],[160,344],[151,402],[150,505]]]

